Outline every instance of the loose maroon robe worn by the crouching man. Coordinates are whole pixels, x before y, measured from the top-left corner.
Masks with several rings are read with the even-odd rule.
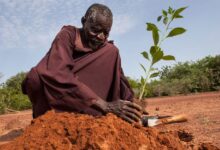
[[[64,26],[46,56],[27,74],[22,89],[32,102],[34,118],[50,109],[101,115],[92,107],[97,99],[133,99],[118,49],[106,42],[93,51],[82,38],[80,29]]]

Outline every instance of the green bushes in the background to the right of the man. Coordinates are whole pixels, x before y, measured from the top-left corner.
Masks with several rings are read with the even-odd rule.
[[[136,97],[140,80],[128,77]],[[159,78],[146,87],[144,97],[173,96],[220,90],[220,55],[207,56],[196,62],[181,62],[161,69]]]

